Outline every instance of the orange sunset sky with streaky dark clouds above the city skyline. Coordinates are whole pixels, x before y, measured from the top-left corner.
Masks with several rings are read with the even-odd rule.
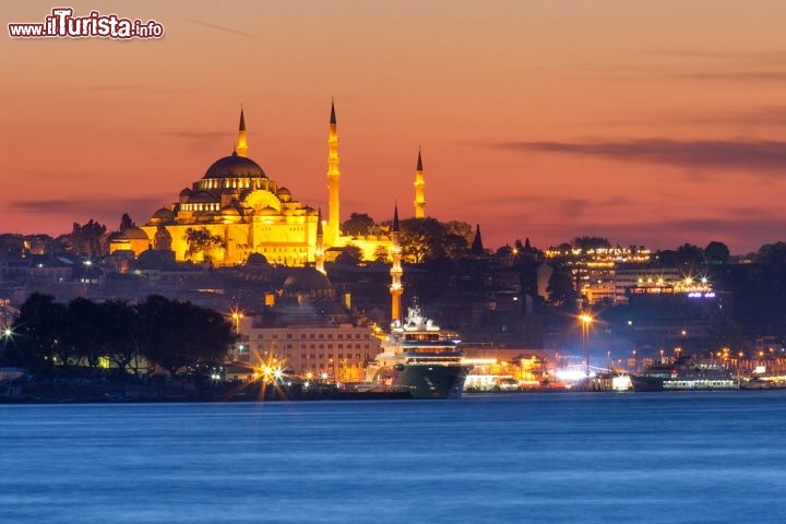
[[[13,39],[7,24],[155,20],[165,36]],[[231,152],[342,218],[480,224],[487,247],[576,236],[733,253],[786,240],[783,0],[3,2],[0,231],[142,224]]]

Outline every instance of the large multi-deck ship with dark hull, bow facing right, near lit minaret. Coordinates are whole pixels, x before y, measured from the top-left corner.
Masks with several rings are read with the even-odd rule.
[[[427,319],[417,301],[393,321],[382,352],[366,368],[366,384],[408,390],[414,398],[460,398],[472,366],[454,332]]]

